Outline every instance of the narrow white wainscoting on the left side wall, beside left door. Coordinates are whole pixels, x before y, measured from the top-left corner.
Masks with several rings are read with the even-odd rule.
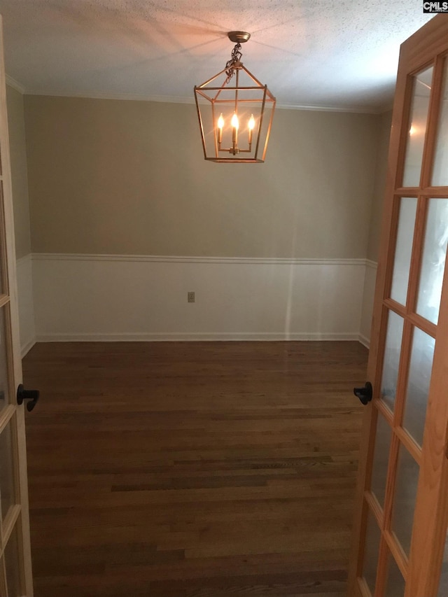
[[[17,260],[17,286],[19,300],[20,348],[23,357],[36,342],[31,255],[25,255],[25,257],[21,257]]]

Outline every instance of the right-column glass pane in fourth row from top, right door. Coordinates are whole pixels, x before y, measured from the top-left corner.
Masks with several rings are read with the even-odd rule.
[[[401,547],[409,555],[412,524],[414,522],[415,498],[419,482],[419,465],[405,447],[400,446],[398,472],[391,529]]]

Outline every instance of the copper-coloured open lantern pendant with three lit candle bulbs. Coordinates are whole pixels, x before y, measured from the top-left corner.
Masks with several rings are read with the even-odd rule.
[[[225,69],[195,85],[204,157],[211,162],[265,161],[276,100],[241,62],[241,43],[250,36],[230,31],[236,45]]]

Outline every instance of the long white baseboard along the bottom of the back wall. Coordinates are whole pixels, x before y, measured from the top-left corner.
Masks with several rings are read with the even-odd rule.
[[[284,334],[284,333],[202,333],[179,334],[176,332],[157,334],[41,334],[37,342],[284,342],[305,340],[358,340],[357,333],[346,334]]]

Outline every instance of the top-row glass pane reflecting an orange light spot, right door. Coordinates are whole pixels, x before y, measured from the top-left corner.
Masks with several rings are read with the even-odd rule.
[[[432,66],[414,76],[411,122],[407,134],[405,171],[403,174],[404,187],[418,187],[420,184],[421,158],[423,157],[432,78]]]

